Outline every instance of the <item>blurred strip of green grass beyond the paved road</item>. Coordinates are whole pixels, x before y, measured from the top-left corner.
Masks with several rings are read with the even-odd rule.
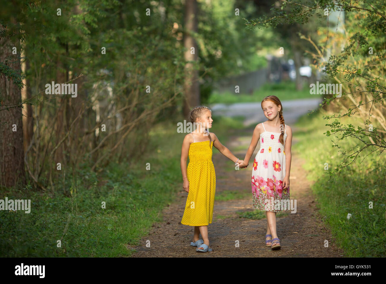
[[[298,91],[295,87],[295,82],[281,82],[277,84],[266,84],[259,90],[253,92],[253,94],[235,94],[229,92],[213,92],[209,99],[208,104],[234,104],[237,102],[261,102],[264,97],[269,95],[275,95],[280,100],[296,100],[296,99],[310,99],[318,98],[320,95],[310,94],[310,88],[305,85],[303,90]]]

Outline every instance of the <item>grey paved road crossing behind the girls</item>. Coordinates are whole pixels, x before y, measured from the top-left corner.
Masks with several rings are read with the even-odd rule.
[[[317,109],[322,101],[322,98],[281,101],[285,122],[287,124],[294,124],[303,114]],[[212,109],[214,115],[229,117],[244,116],[244,126],[266,121],[260,102],[240,102],[231,105],[213,104],[210,106],[210,109]]]

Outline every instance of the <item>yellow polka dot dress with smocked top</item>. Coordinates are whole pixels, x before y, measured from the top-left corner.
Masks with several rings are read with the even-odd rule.
[[[212,148],[213,141],[210,142],[209,140],[190,144],[189,164],[186,169],[189,193],[181,224],[206,226],[212,223],[216,191]]]

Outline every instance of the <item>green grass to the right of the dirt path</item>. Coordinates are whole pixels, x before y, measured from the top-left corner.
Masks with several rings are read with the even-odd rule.
[[[353,117],[349,120],[342,119],[341,122],[359,125]],[[338,141],[334,136],[325,136],[323,132],[329,129],[325,126],[326,123],[328,121],[323,120],[320,113],[302,117],[296,124],[301,130],[294,134],[300,142],[293,146],[306,160],[303,167],[308,172],[308,178],[314,181],[312,190],[320,207],[319,213],[330,226],[337,245],[344,249],[345,256],[385,257],[384,154],[370,154],[374,149],[367,149],[360,154],[356,163],[345,168],[340,176],[335,174],[328,181],[325,163],[332,170],[344,158],[336,147],[331,146],[330,140],[333,139],[345,151],[349,151],[356,143],[352,138]],[[367,154],[370,155],[363,160]],[[369,202],[373,204],[372,209],[369,208]],[[349,219],[348,214],[351,214]]]

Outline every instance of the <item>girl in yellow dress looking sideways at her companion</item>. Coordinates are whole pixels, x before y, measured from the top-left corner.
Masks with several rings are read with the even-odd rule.
[[[216,174],[212,163],[212,147],[232,160],[235,165],[242,163],[231,151],[220,143],[212,128],[212,111],[205,106],[195,107],[189,114],[190,122],[196,126],[186,134],[181,150],[181,172],[183,189],[188,192],[181,224],[194,226],[192,246],[197,252],[212,251],[209,248],[208,224],[212,223],[213,203],[216,191]],[[189,164],[186,160],[189,155]],[[202,240],[200,240],[200,233]]]

